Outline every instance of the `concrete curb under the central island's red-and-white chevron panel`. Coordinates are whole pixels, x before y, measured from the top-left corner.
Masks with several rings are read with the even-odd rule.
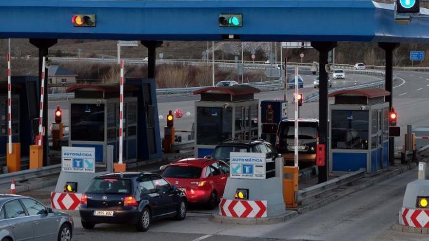
[[[285,222],[286,220],[295,217],[298,215],[296,211],[286,211],[285,215],[274,216],[269,218],[231,218],[220,216],[219,214],[213,214],[210,217],[210,221],[218,223],[227,223],[227,224],[245,224],[245,225],[254,225],[254,224],[274,224],[279,222]]]

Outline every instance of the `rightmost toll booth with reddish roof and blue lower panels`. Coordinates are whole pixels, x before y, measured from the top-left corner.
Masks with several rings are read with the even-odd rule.
[[[389,103],[382,89],[344,90],[331,93],[330,171],[373,173],[389,166]]]

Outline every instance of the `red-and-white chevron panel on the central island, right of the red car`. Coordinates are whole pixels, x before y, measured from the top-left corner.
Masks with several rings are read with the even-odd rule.
[[[247,201],[222,199],[219,215],[232,218],[266,218],[267,201]]]

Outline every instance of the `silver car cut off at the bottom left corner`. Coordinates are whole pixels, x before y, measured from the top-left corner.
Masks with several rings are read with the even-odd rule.
[[[73,225],[70,215],[53,212],[33,198],[0,195],[1,241],[70,241]]]

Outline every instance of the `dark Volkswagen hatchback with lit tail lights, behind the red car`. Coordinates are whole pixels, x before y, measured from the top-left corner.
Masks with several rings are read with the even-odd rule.
[[[185,194],[153,173],[112,173],[94,178],[80,202],[85,229],[96,223],[136,224],[147,231],[153,220],[186,217]]]

